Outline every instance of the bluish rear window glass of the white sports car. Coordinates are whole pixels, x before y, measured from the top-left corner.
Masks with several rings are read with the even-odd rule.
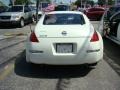
[[[44,25],[70,25],[85,24],[83,15],[80,14],[48,14],[45,16]]]

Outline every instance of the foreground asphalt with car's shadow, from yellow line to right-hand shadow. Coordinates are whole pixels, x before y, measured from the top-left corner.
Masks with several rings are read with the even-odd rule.
[[[6,73],[8,74],[7,76]],[[2,77],[2,78],[1,78]],[[120,77],[106,63],[85,66],[41,66],[25,61],[25,52],[0,76],[1,90],[119,90]]]

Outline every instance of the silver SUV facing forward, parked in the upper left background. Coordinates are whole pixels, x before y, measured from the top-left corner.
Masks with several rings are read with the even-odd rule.
[[[0,13],[0,25],[16,24],[23,27],[30,21],[32,21],[32,11],[25,5],[11,6],[5,12]]]

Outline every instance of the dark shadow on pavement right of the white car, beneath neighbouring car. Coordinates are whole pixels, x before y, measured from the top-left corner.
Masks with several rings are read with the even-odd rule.
[[[104,38],[104,59],[120,75],[120,45],[108,38]]]

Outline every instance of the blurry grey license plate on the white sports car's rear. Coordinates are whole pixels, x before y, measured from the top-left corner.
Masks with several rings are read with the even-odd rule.
[[[56,53],[73,53],[73,43],[57,43]]]

